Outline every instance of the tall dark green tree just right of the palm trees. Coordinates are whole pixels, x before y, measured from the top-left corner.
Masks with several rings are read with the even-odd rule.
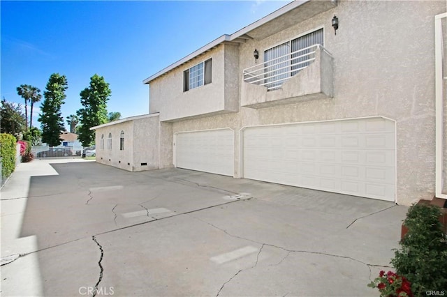
[[[61,143],[59,138],[64,132],[64,119],[61,116],[61,105],[66,98],[65,91],[68,89],[68,82],[65,75],[53,73],[48,79],[46,91],[43,92],[45,100],[41,105],[41,114],[38,121],[41,122],[42,142],[49,146],[58,146]]]

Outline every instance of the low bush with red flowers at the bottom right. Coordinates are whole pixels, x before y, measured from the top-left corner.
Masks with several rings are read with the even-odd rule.
[[[411,283],[404,276],[397,275],[393,271],[388,271],[388,273],[381,271],[379,277],[376,277],[374,282],[370,282],[368,287],[379,289],[381,297],[413,297]]]

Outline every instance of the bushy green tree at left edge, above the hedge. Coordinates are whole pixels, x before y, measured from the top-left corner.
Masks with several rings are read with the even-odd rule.
[[[26,119],[22,114],[22,105],[1,100],[0,132],[14,135],[16,138],[26,129]]]

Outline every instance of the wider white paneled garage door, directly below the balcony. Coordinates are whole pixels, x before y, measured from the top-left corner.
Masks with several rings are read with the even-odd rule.
[[[246,128],[244,178],[395,201],[395,123],[368,118]]]

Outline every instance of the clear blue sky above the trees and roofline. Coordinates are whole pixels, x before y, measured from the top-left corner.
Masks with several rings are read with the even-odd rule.
[[[1,98],[24,103],[20,84],[42,93],[66,75],[66,116],[97,73],[110,84],[109,112],[149,112],[142,80],[290,1],[1,1]],[[33,124],[40,128],[35,106]],[[37,108],[36,108],[37,107]],[[68,125],[66,125],[68,126]]]

